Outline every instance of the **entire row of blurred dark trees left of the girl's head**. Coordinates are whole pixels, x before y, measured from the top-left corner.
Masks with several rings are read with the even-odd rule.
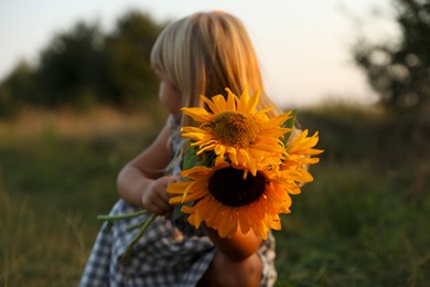
[[[129,11],[105,34],[97,22],[76,23],[53,36],[36,66],[22,62],[0,83],[0,117],[22,106],[75,108],[110,104],[136,109],[157,98],[150,65],[152,45],[164,24]]]

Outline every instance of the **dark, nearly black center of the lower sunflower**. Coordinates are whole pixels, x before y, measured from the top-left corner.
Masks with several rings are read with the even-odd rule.
[[[266,179],[260,173],[248,174],[244,171],[225,168],[215,171],[208,181],[211,194],[221,203],[228,206],[243,206],[258,200],[266,189]]]

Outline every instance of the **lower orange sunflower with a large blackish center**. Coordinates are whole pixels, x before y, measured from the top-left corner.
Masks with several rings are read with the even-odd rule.
[[[181,211],[190,214],[187,221],[198,228],[202,222],[218,231],[221,237],[232,237],[254,230],[266,240],[270,228],[280,230],[280,213],[290,213],[291,198],[286,189],[290,183],[278,180],[269,170],[244,177],[245,170],[226,161],[208,168],[197,166],[181,172],[187,181],[168,187],[174,194],[171,204],[192,202]]]

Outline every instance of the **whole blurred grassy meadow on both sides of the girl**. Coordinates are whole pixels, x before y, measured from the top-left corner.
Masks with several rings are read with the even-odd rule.
[[[277,285],[430,286],[428,135],[376,108],[299,120],[325,152],[275,233]],[[0,286],[76,286],[119,169],[162,125],[108,108],[0,121]]]

